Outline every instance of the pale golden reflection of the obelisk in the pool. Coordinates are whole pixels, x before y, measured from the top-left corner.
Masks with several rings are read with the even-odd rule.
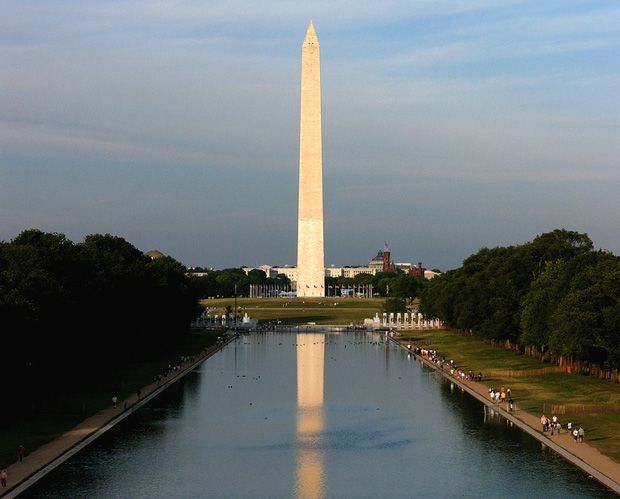
[[[297,335],[297,480],[299,499],[325,496],[323,379],[325,335]]]

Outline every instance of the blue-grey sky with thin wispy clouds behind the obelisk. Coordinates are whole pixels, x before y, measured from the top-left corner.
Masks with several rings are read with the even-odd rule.
[[[620,253],[620,3],[2,1],[0,239],[295,263],[321,43],[326,264],[454,268],[564,227]]]

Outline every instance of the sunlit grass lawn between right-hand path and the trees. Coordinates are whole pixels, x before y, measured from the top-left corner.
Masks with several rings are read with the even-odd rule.
[[[436,349],[458,367],[468,371],[530,370],[550,364],[518,352],[490,345],[476,337],[451,331],[408,331],[399,338],[403,343]],[[543,411],[552,416],[552,404],[620,405],[620,385],[594,377],[550,373],[530,377],[484,376],[489,387],[509,386],[519,409],[536,416]],[[562,426],[572,421],[586,430],[586,440],[602,453],[620,462],[620,411],[558,415]]]

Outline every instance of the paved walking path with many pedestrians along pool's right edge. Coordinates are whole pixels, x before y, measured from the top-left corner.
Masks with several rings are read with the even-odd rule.
[[[501,414],[504,418],[514,423],[523,431],[529,433],[551,450],[557,452],[563,458],[570,461],[575,466],[578,466],[593,478],[596,478],[606,487],[609,487],[616,494],[620,494],[620,463],[617,463],[608,456],[601,454],[598,449],[586,443],[576,443],[565,429],[562,433],[556,433],[553,436],[542,433],[542,431],[539,430],[539,428],[542,429],[540,416],[534,416],[528,412],[520,410],[516,404],[514,411],[506,411],[500,407],[500,404],[492,402],[489,399],[488,386],[477,381],[457,379],[456,377],[451,376],[449,372],[446,372],[437,364],[430,361],[428,358],[421,355],[416,355],[397,339],[390,339],[400,345],[411,355],[415,355],[415,357],[418,358],[423,364],[440,372],[445,378],[461,387],[472,397],[475,397],[487,407]],[[586,433],[586,439],[587,437],[588,435]]]

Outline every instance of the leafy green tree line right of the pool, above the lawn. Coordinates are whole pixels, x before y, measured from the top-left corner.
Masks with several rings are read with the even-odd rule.
[[[421,311],[546,357],[620,367],[620,258],[587,234],[556,229],[483,248],[428,283]]]

